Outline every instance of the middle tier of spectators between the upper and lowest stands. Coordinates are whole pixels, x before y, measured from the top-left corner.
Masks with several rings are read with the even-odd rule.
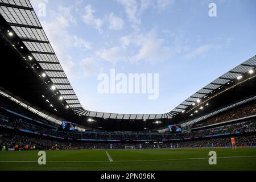
[[[26,122],[26,119],[14,119],[11,117],[6,118],[5,116],[0,114],[0,123],[2,125],[8,125],[11,127],[16,127],[17,129],[24,129],[36,132],[40,135],[53,135],[55,137],[60,138],[72,138],[74,140],[77,139],[103,139],[103,140],[164,140],[164,139],[184,139],[184,138],[202,138],[207,135],[215,135],[215,134],[226,134],[226,133],[243,133],[247,130],[256,130],[256,122],[255,119],[251,119],[249,121],[244,121],[241,123],[234,123],[232,125],[215,127],[213,129],[206,129],[200,131],[193,131],[188,133],[107,133],[107,132],[68,132],[68,131],[59,131],[47,129],[42,126],[37,126],[35,124],[31,124]]]

